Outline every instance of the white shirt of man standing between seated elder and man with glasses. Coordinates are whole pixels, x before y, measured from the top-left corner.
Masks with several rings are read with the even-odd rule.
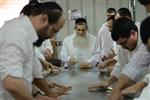
[[[101,57],[108,53],[112,53],[111,49],[116,52],[116,43],[111,38],[111,32],[109,31],[106,22],[98,31],[93,56],[88,60],[88,62],[96,65]]]

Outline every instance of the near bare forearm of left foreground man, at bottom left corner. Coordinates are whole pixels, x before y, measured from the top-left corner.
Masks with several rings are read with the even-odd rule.
[[[15,100],[34,100],[23,79],[7,76],[3,80],[3,84],[4,88],[15,98]]]

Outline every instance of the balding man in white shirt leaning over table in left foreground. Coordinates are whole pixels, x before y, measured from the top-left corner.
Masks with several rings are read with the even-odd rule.
[[[34,56],[33,44],[50,38],[64,26],[62,8],[56,2],[28,6],[32,7],[29,16],[8,21],[0,29],[2,100],[35,100],[31,94],[32,83],[51,96],[42,77],[41,64]]]

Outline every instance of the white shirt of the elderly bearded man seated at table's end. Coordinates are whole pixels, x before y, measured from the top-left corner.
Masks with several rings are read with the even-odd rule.
[[[73,45],[73,38],[75,33],[66,37],[63,41],[63,45],[60,52],[61,60],[67,63],[70,58],[87,61],[92,56],[92,51],[96,42],[96,37],[92,34],[86,33],[90,47],[88,49],[76,48]]]

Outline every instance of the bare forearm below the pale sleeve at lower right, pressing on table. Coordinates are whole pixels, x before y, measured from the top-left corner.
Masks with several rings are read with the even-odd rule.
[[[120,100],[121,91],[133,83],[134,82],[129,77],[121,74],[117,84],[115,85],[115,87],[112,91],[112,94],[110,96],[110,100]]]

